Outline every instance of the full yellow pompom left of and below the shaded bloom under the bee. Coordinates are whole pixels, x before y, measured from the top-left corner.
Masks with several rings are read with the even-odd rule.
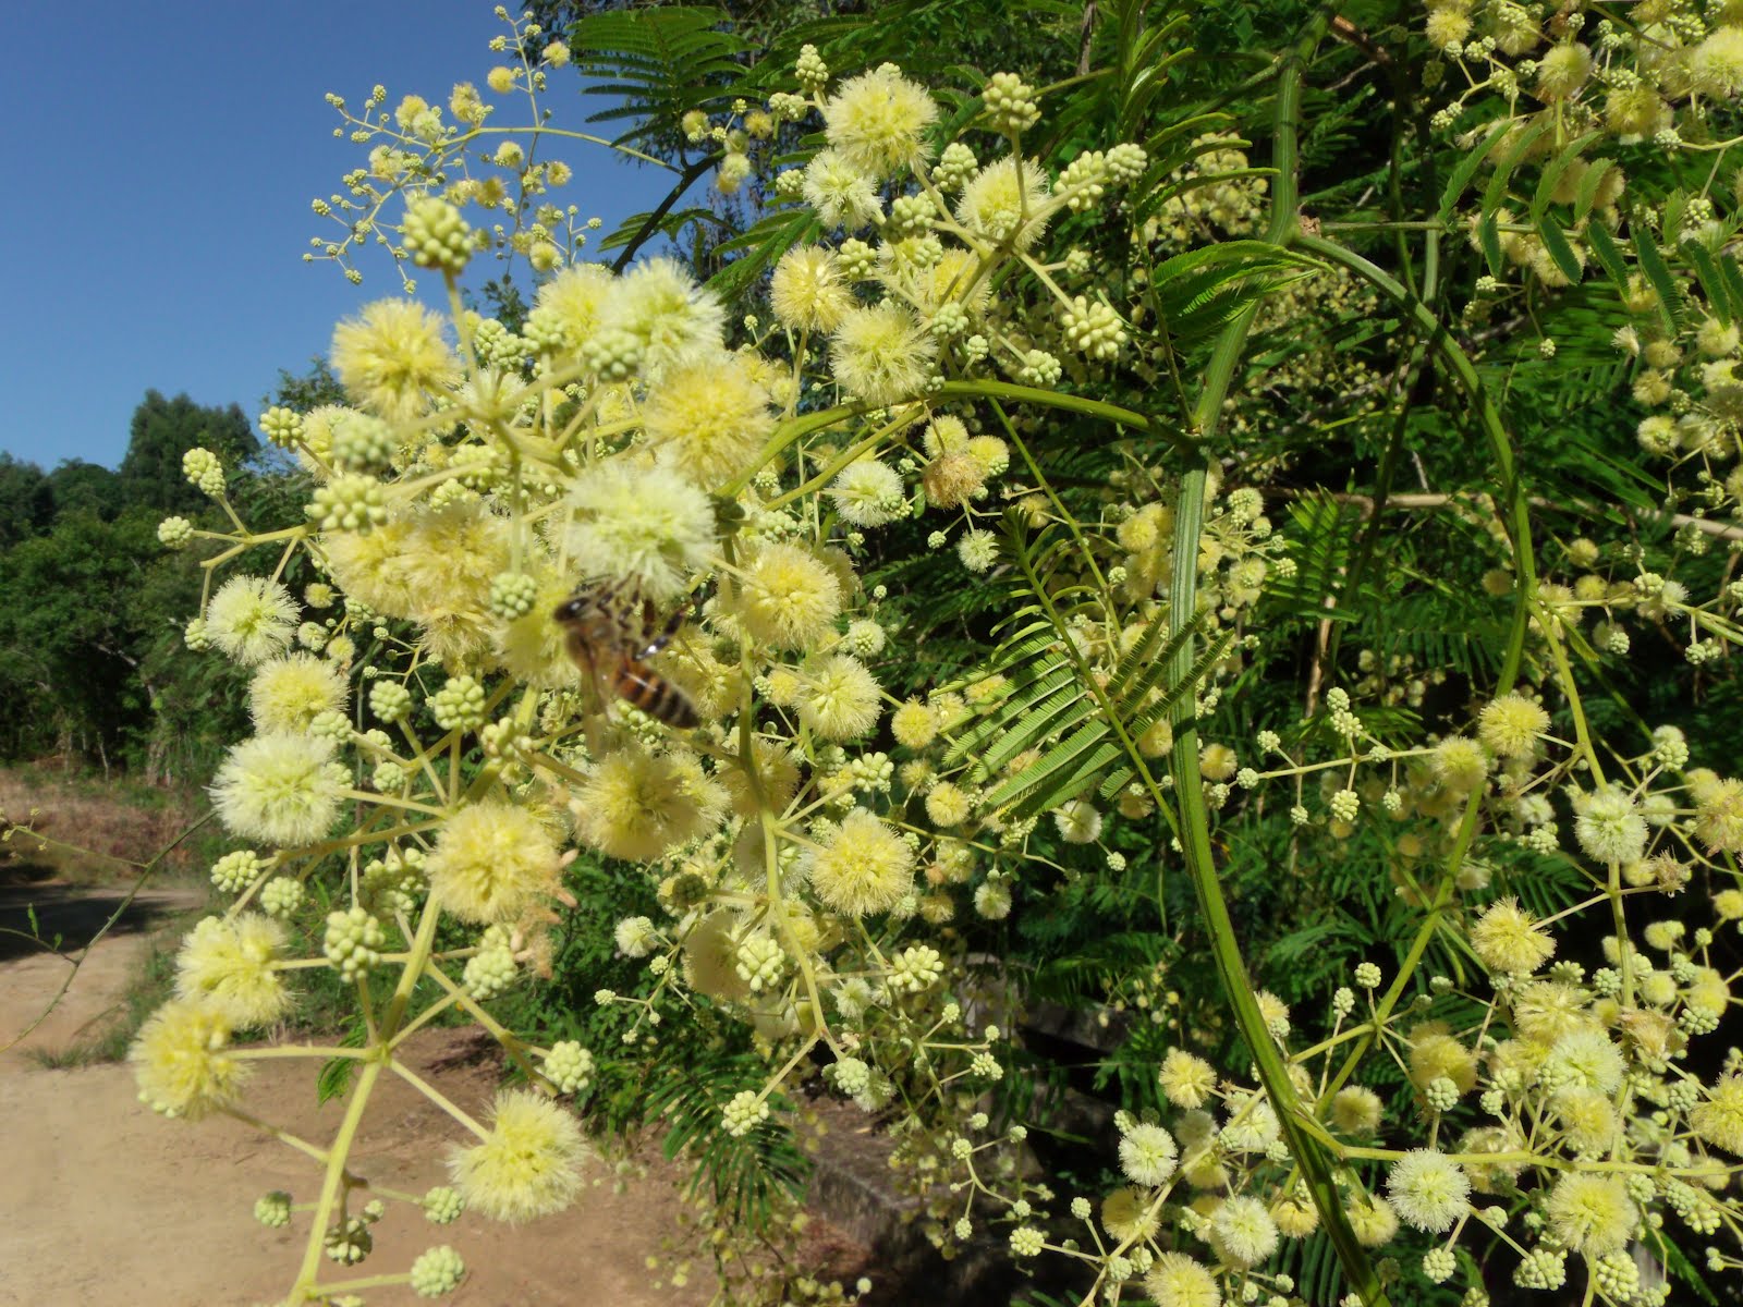
[[[436,904],[476,925],[525,917],[556,891],[558,866],[544,824],[500,798],[469,803],[448,817],[424,859]]]

